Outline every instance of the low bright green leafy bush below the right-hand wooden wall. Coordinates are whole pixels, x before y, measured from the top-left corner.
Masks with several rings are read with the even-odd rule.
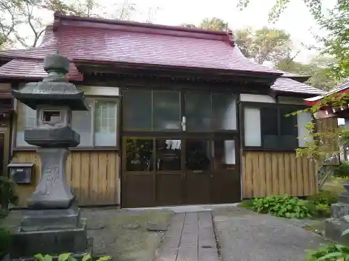
[[[315,205],[308,201],[287,195],[253,198],[249,208],[258,213],[272,214],[288,219],[311,218],[316,211]]]

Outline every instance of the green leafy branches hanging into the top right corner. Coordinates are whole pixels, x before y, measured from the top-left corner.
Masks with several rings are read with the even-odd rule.
[[[322,54],[329,54],[336,58],[332,64],[331,73],[337,79],[349,77],[349,1],[337,0],[329,15],[322,13],[321,0],[303,0],[309,8],[315,21],[321,26],[322,31],[327,32],[320,38],[324,44]],[[250,0],[239,0],[238,6],[243,9],[248,6]],[[290,0],[276,0],[272,10],[269,11],[269,21],[275,22],[283,10],[287,8]]]

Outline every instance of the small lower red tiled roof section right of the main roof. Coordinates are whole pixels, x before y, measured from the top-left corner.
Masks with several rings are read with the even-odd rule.
[[[314,95],[324,93],[323,90],[308,84],[300,83],[299,81],[295,81],[287,77],[278,78],[271,88],[272,90],[289,93],[309,93]]]

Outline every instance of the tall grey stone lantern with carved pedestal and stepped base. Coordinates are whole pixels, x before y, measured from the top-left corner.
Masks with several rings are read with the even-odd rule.
[[[86,111],[84,92],[68,82],[69,61],[64,56],[45,57],[48,76],[13,90],[13,96],[36,110],[36,127],[24,131],[24,141],[38,146],[41,178],[27,201],[28,210],[13,237],[10,258],[32,258],[36,253],[86,253],[86,223],[66,180],[69,147],[80,143],[71,128],[72,111]]]

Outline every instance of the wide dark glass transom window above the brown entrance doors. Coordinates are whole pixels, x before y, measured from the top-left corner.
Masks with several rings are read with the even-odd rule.
[[[126,90],[124,129],[156,132],[220,132],[237,129],[234,95],[185,93],[184,96],[182,102],[179,91]],[[181,111],[182,107],[184,111]]]

